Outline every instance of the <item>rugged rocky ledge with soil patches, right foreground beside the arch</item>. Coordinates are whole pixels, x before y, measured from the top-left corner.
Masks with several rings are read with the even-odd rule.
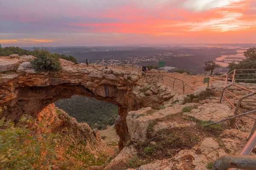
[[[202,127],[233,116],[230,105],[219,104],[222,87],[223,82],[215,82],[198,88],[185,97],[185,105],[175,102],[162,110],[130,111],[126,120],[131,138],[105,170],[207,170],[218,157],[239,154],[252,119],[237,119],[242,131],[230,129],[229,122]]]

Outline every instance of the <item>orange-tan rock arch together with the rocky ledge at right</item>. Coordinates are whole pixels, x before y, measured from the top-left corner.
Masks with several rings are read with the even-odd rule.
[[[61,60],[60,73],[38,74],[28,59],[5,57],[1,61],[5,64],[0,65],[0,106],[7,106],[2,116],[18,121],[26,113],[38,121],[49,119],[52,131],[65,133],[68,127],[77,139],[84,139],[84,149],[90,150],[94,159],[107,148],[98,131],[77,123],[52,103],[77,94],[119,106],[116,133],[121,152],[105,162],[105,170],[207,170],[218,157],[238,154],[254,123],[243,117],[237,119],[240,130],[231,129],[228,122],[203,127],[233,116],[229,104],[219,103],[224,82],[199,87],[186,96],[161,83],[146,83],[131,71],[87,68]],[[231,91],[244,95],[237,88]],[[247,104],[242,107],[255,108]]]

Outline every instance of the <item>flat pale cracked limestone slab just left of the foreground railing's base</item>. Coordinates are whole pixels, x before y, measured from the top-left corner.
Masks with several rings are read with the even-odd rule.
[[[218,103],[207,103],[199,105],[197,109],[193,109],[189,113],[183,113],[187,116],[193,116],[196,119],[202,121],[217,122],[222,119],[233,116],[233,112],[227,105],[221,105]]]

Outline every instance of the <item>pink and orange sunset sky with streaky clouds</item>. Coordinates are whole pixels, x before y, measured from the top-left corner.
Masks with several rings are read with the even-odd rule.
[[[256,0],[0,0],[2,46],[256,43]]]

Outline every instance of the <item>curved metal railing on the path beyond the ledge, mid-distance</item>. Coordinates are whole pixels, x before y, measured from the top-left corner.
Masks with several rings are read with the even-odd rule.
[[[157,80],[154,78],[157,78]],[[175,77],[170,77],[163,74],[145,74],[145,79],[146,81],[153,80],[157,81],[158,83],[162,81],[163,84],[166,84],[170,86],[172,89],[182,92],[182,94],[191,94],[195,91],[194,88],[192,88],[182,79],[177,79]]]

